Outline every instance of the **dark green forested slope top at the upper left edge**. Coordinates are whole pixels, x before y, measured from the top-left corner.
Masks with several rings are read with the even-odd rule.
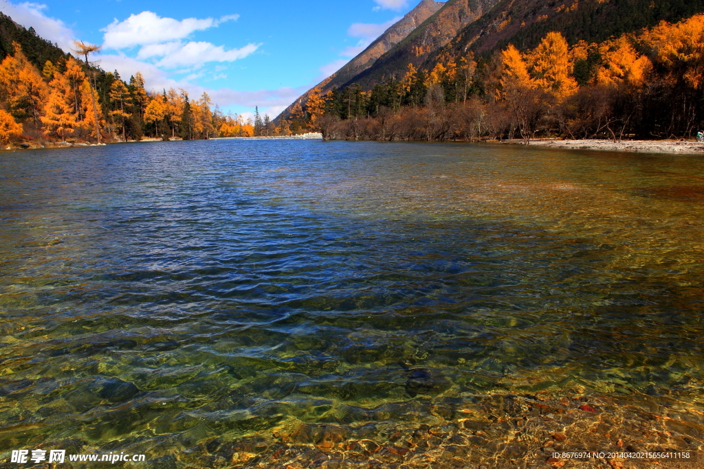
[[[57,63],[66,58],[56,44],[39,37],[34,28],[27,30],[0,11],[0,60],[14,53],[13,41],[22,46],[27,59],[37,68],[42,68],[46,60]]]

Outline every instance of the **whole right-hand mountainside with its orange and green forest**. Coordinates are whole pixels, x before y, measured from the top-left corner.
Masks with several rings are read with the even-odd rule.
[[[464,6],[484,13],[458,27]],[[704,130],[703,12],[704,0],[448,1],[278,122],[335,139],[691,137]]]

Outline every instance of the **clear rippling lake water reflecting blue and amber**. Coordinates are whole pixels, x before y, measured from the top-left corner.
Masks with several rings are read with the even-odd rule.
[[[474,469],[698,449],[703,220],[693,155],[2,153],[0,458]]]

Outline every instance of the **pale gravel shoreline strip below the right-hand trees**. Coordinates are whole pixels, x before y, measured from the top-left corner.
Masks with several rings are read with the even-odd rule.
[[[522,145],[518,139],[498,141],[497,143]],[[556,140],[536,139],[530,141],[530,146],[544,148],[560,148],[565,150],[600,150],[637,153],[704,153],[704,142],[687,140],[624,140],[614,143],[610,140]]]

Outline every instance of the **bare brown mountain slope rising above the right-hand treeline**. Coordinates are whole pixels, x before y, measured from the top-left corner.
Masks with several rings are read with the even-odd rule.
[[[488,59],[508,44],[524,51],[534,48],[551,31],[561,32],[570,44],[580,40],[601,42],[662,20],[674,23],[704,12],[704,0],[448,0],[445,4],[424,0],[416,9],[430,11],[431,4],[440,7],[415,30],[407,32],[413,24],[407,21],[405,35],[396,34],[394,39],[403,36],[396,42],[379,37],[318,87],[325,92],[359,84],[368,91],[387,77],[403,77],[409,63],[429,71],[439,62],[456,60],[470,52]],[[384,48],[388,49],[379,54]],[[306,103],[309,94],[296,103]],[[288,118],[292,107],[277,121]]]

